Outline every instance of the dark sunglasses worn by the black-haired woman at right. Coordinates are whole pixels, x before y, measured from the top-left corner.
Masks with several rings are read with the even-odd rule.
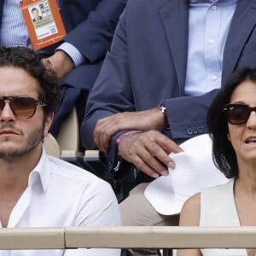
[[[250,108],[245,104],[226,104],[222,110],[231,125],[242,125],[247,122],[252,111],[256,112],[256,107]]]

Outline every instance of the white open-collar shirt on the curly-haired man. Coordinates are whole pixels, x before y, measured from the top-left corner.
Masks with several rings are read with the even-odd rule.
[[[29,175],[26,190],[9,216],[8,228],[108,225],[120,225],[119,206],[110,185],[43,151]],[[93,248],[0,251],[1,256],[117,256],[119,253],[115,249]]]

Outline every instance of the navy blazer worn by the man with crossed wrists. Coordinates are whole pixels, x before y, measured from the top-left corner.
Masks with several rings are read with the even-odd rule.
[[[177,143],[207,132],[207,108],[217,90],[184,96],[188,51],[188,0],[129,0],[113,44],[90,92],[81,127],[87,148],[96,148],[96,121],[113,113],[140,111],[166,102]],[[239,0],[224,47],[222,82],[237,67],[256,67],[256,2]],[[200,71],[199,71],[200,72]],[[116,136],[108,153],[115,165]]]

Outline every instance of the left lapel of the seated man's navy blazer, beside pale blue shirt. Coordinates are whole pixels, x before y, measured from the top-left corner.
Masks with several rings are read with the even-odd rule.
[[[160,17],[172,52],[181,95],[183,95],[184,91],[187,68],[189,34],[188,11],[187,0],[170,0],[164,8],[160,9]]]

